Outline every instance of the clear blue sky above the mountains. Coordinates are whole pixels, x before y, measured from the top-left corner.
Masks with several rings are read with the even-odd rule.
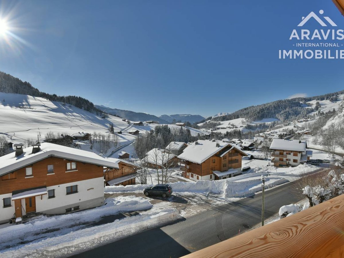
[[[301,17],[319,10],[344,29],[330,0],[1,1],[11,34],[0,35],[0,70],[112,108],[233,112],[344,89],[344,59],[278,58]]]

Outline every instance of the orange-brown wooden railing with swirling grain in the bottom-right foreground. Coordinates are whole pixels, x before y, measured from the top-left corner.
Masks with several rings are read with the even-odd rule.
[[[344,257],[344,195],[185,257]]]

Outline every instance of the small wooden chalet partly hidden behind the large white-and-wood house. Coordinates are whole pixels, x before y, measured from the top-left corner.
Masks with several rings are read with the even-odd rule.
[[[136,170],[139,168],[134,163],[126,160],[114,159],[118,168],[106,170],[104,179],[106,185],[131,185],[135,184]]]

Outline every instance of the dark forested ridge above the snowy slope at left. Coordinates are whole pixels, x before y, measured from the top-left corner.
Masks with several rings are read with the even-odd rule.
[[[17,93],[30,95],[33,97],[42,97],[51,101],[60,101],[71,104],[75,107],[82,108],[86,111],[100,115],[101,110],[96,108],[89,100],[78,96],[57,96],[56,94],[48,94],[40,92],[38,89],[32,87],[28,82],[23,82],[19,78],[15,78],[10,74],[0,71],[0,92],[3,93]]]

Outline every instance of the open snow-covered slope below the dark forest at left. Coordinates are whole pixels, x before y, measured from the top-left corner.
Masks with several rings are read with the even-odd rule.
[[[144,133],[156,126],[154,124],[128,125],[119,117],[109,115],[108,118],[102,118],[58,101],[21,94],[0,93],[0,134],[7,135],[13,142],[35,140],[39,132],[44,139],[49,131],[68,135],[76,132],[108,133],[111,123],[115,131],[123,132],[122,135],[118,135],[121,145],[135,139],[135,136],[128,133],[129,130],[136,128]],[[175,125],[169,125],[169,127],[180,129]],[[190,130],[192,135],[205,133],[193,128]]]

